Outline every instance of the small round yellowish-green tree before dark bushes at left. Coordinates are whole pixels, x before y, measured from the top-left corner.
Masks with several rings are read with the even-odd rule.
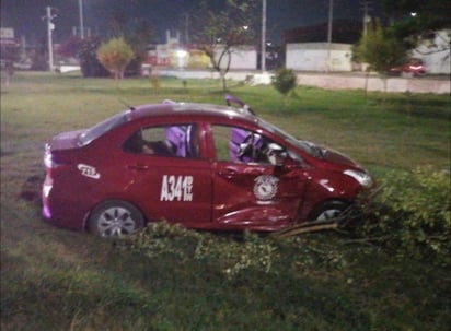
[[[96,56],[102,66],[113,72],[114,79],[118,80],[124,78],[124,71],[134,58],[134,51],[125,39],[119,37],[103,43]]]

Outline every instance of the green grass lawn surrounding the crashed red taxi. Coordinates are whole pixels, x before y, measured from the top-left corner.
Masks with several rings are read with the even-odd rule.
[[[180,230],[155,238],[149,256],[43,222],[42,156],[53,134],[126,105],[223,104],[219,81],[159,85],[18,72],[1,86],[1,330],[448,330],[450,270],[350,234],[279,241]],[[448,95],[299,86],[282,106],[270,86],[229,87],[261,117],[350,155],[377,178],[450,169]],[[197,236],[218,253],[193,252]],[[251,262],[240,260],[243,249]]]

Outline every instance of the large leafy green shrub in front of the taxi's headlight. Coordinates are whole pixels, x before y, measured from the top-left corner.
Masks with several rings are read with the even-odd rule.
[[[396,172],[380,186],[371,202],[377,222],[366,226],[366,236],[400,256],[451,264],[450,173],[431,167]]]

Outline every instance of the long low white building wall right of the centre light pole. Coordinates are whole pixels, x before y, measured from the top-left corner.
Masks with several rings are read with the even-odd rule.
[[[301,71],[352,71],[352,45],[287,44],[286,67]]]

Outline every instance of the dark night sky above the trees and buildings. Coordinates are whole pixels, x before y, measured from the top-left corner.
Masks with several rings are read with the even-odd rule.
[[[1,26],[13,27],[15,37],[27,43],[46,38],[46,23],[42,19],[47,5],[55,8],[57,17],[53,33],[56,43],[72,35],[79,27],[79,0],[0,0]],[[224,0],[209,0],[220,7]],[[154,42],[165,40],[166,29],[184,26],[184,14],[196,8],[199,0],[83,0],[84,27],[92,34],[106,35],[112,12],[120,9],[127,20],[146,19],[153,29]],[[361,0],[334,0],[334,20],[362,20]],[[377,0],[370,1],[372,3]],[[329,0],[267,0],[267,31],[270,42],[278,44],[284,29],[327,22]],[[257,13],[261,16],[261,12]],[[259,32],[258,32],[259,34]]]

